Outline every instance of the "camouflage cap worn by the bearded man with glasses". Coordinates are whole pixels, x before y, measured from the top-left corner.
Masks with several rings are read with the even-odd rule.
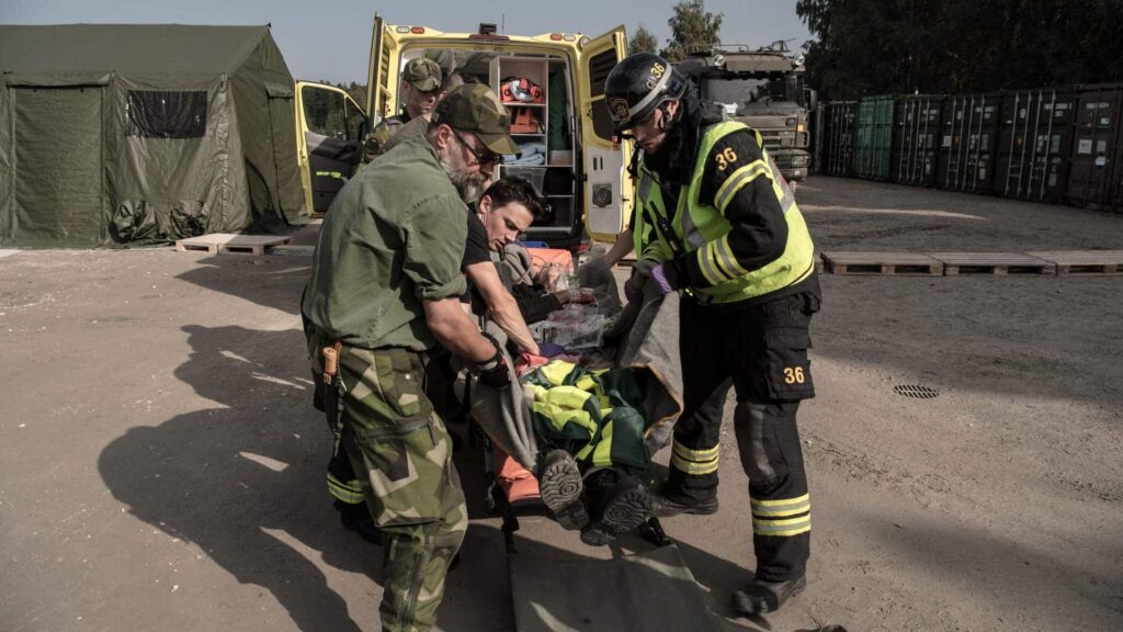
[[[457,132],[472,132],[496,154],[521,153],[511,138],[511,117],[484,83],[465,83],[450,90],[433,109],[432,121]]]

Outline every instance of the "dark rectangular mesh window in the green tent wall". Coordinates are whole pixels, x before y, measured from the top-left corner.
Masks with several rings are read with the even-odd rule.
[[[129,136],[199,138],[207,130],[207,92],[129,91]]]

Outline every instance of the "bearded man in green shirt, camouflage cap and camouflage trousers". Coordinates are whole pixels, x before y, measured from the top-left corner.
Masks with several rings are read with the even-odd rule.
[[[323,370],[322,350],[340,344],[340,441],[382,532],[389,632],[435,625],[468,525],[448,431],[422,390],[422,354],[440,343],[481,381],[510,386],[497,345],[459,306],[463,199],[517,151],[509,129],[487,87],[450,92],[424,136],[336,197],[304,291],[313,371]]]

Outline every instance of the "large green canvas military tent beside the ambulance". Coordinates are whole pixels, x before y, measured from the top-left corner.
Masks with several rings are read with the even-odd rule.
[[[268,27],[0,25],[0,244],[115,246],[308,222]]]

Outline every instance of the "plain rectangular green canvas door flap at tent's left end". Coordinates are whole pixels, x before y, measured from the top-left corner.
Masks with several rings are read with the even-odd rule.
[[[102,89],[17,88],[15,237],[28,245],[95,246],[104,240]]]

